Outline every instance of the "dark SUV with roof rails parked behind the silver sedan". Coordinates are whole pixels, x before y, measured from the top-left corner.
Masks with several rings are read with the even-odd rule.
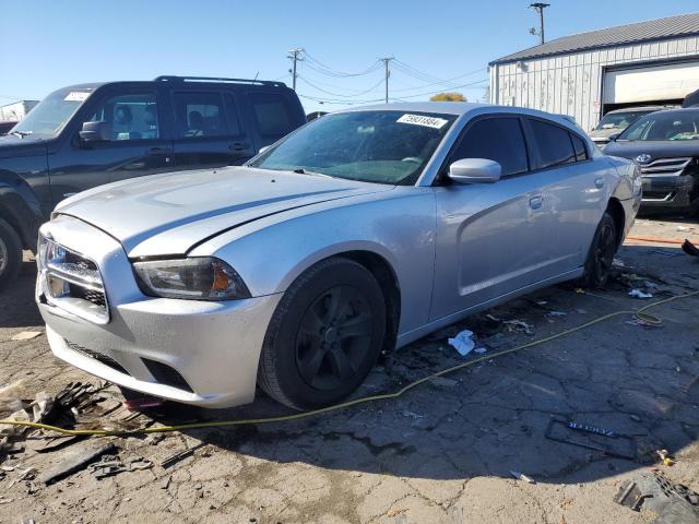
[[[281,82],[158,76],[51,93],[0,136],[0,286],[64,198],[125,178],[242,164],[305,122]]]

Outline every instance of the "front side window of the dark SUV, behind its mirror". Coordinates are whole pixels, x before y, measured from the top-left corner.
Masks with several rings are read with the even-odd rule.
[[[104,122],[103,138],[109,141],[159,138],[155,93],[109,97],[99,105],[90,121]]]

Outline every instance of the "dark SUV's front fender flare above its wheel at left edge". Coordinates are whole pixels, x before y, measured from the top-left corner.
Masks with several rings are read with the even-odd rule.
[[[25,249],[36,248],[44,222],[39,199],[26,180],[7,169],[0,169],[0,218],[17,231]]]

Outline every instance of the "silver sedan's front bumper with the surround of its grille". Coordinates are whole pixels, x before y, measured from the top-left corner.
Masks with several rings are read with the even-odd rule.
[[[42,234],[90,257],[104,275],[107,323],[50,303],[39,272],[36,299],[54,354],[132,390],[205,407],[254,398],[260,349],[281,295],[208,302],[144,296],[121,246],[60,217]]]

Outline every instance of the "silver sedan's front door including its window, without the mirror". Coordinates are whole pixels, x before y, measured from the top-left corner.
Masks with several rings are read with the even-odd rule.
[[[448,166],[487,158],[502,167],[495,183],[451,183]],[[550,199],[537,174],[519,116],[489,115],[470,122],[435,189],[437,251],[430,320],[502,297],[552,275],[547,238]]]

